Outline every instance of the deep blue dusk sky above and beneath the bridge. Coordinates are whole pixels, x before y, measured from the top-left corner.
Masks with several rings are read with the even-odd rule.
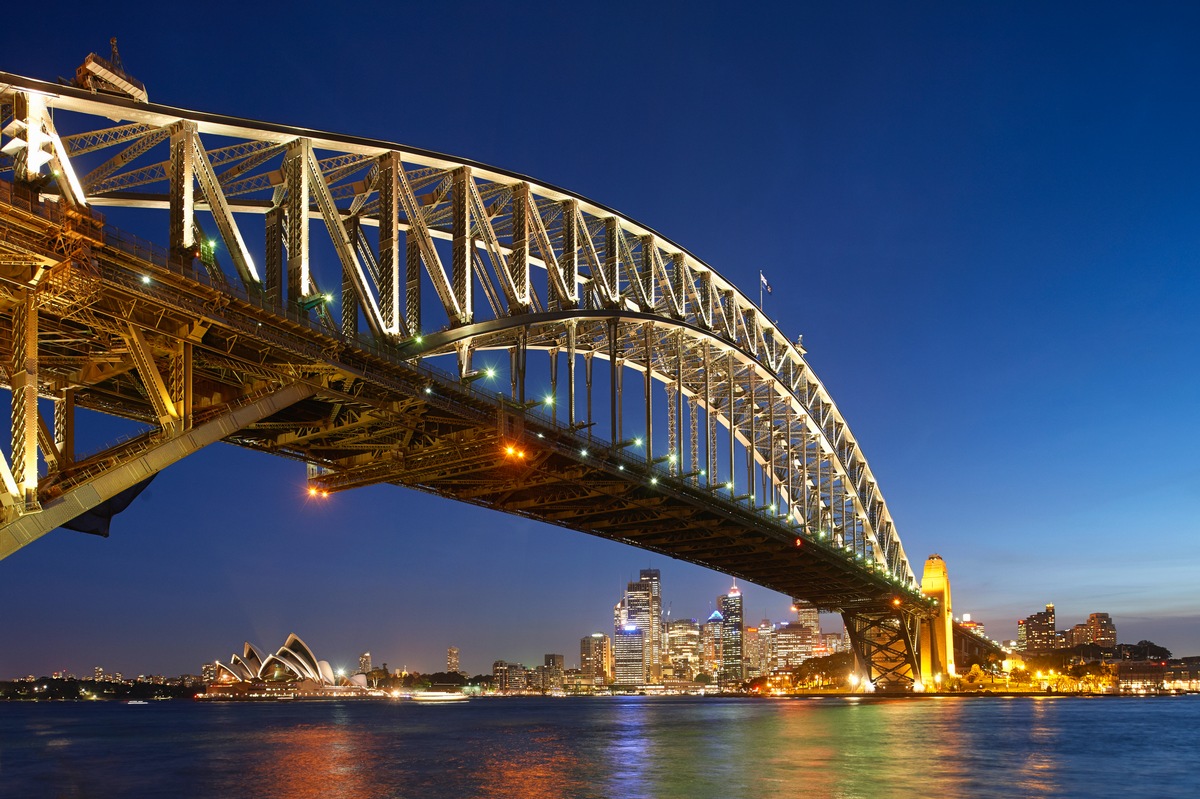
[[[1190,4],[428,5],[82,8],[7,26],[0,68],[70,76],[116,35],[155,102],[461,155],[748,294],[762,270],[956,613],[1008,638],[1045,602],[1060,626],[1105,611],[1122,641],[1200,654]],[[416,492],[302,491],[298,464],[218,445],[109,540],[0,563],[0,678],[196,672],[290,631],[335,665],[570,663],[640,567],[676,615],[730,584]],[[786,614],[746,596],[749,620]]]

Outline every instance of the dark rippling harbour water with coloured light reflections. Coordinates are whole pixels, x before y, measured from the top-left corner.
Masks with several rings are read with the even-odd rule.
[[[1200,797],[1200,696],[0,703],[0,797]]]

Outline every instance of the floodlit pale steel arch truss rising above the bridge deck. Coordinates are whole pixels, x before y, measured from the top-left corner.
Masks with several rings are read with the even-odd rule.
[[[8,73],[0,86],[0,144],[10,154],[0,172],[77,209],[166,210],[172,252],[203,263],[214,286],[240,283],[248,296],[300,308],[350,346],[414,361],[451,355],[463,379],[474,377],[475,353],[520,356],[514,400],[524,391],[529,349],[568,353],[572,396],[581,358],[588,370],[596,358],[619,367],[610,370],[611,385],[626,368],[648,374],[647,428],[656,384],[671,398],[676,473],[686,402],[691,425],[703,417],[706,441],[716,427],[730,434],[734,486],[734,449],[748,453],[742,497],[764,480],[779,498],[764,506],[786,510],[796,527],[829,536],[898,585],[917,585],[877,481],[803,347],[652,228],[572,192],[427,150]],[[113,148],[115,155],[97,155]],[[42,152],[53,176],[34,158]],[[244,234],[247,215],[264,217],[262,247]],[[314,256],[314,220],[336,256],[332,276]],[[214,242],[228,253],[232,275]],[[318,280],[340,284],[340,319]],[[653,461],[653,435],[647,446]],[[695,462],[700,453],[690,449]],[[712,481],[715,470],[704,471],[689,479]]]

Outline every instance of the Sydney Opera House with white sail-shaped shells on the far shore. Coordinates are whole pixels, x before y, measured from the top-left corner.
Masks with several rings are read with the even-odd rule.
[[[295,633],[278,651],[265,657],[246,642],[242,654],[229,663],[217,661],[216,681],[202,699],[359,699],[373,696],[365,674],[334,674],[329,661],[317,660],[308,644]]]

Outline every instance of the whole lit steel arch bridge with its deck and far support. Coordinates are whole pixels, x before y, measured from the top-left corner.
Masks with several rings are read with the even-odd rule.
[[[227,441],[316,494],[418,488],[840,613],[881,687],[953,662],[948,590],[922,591],[799,342],[653,229],[461,158],[156,106],[95,55],[73,85],[0,73],[0,558]],[[143,432],[77,451],[77,409]]]

